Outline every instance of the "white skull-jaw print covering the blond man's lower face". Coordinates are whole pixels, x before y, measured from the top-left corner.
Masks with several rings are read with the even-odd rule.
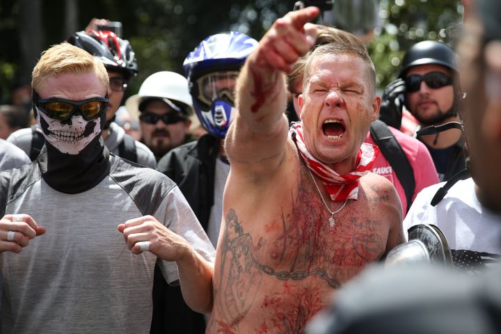
[[[45,141],[65,154],[79,154],[94,138],[101,135],[106,113],[95,120],[85,120],[83,116],[73,116],[61,121],[50,118],[40,109],[36,120],[42,129]]]

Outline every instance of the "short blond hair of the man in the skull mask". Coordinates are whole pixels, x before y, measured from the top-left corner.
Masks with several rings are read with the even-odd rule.
[[[31,87],[38,90],[42,81],[47,77],[57,77],[65,73],[84,74],[91,72],[95,72],[97,78],[108,90],[109,77],[103,63],[84,49],[63,42],[42,52],[40,60],[33,68]]]

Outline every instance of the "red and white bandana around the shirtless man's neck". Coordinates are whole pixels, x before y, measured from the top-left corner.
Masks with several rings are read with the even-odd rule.
[[[369,173],[370,168],[372,168],[379,154],[379,148],[376,145],[363,143],[358,150],[355,169],[348,174],[339,175],[308,152],[304,143],[301,122],[292,123],[289,134],[296,143],[306,166],[320,177],[332,200],[356,200],[358,198],[358,179]]]

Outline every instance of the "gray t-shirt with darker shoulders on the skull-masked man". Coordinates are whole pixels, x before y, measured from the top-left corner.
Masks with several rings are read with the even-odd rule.
[[[3,334],[149,333],[154,264],[169,283],[178,279],[177,266],[131,253],[117,230],[131,218],[151,214],[214,262],[215,250],[174,182],[111,161],[108,177],[76,194],[47,185],[36,161],[0,173],[0,216],[30,214],[47,230],[22,253],[0,255]]]

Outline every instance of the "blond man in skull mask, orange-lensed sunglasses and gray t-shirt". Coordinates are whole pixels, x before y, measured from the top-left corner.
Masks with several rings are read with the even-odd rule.
[[[180,190],[104,146],[108,78],[67,43],[33,70],[46,145],[0,173],[1,333],[148,333],[155,264],[193,310],[212,308],[214,248]]]

